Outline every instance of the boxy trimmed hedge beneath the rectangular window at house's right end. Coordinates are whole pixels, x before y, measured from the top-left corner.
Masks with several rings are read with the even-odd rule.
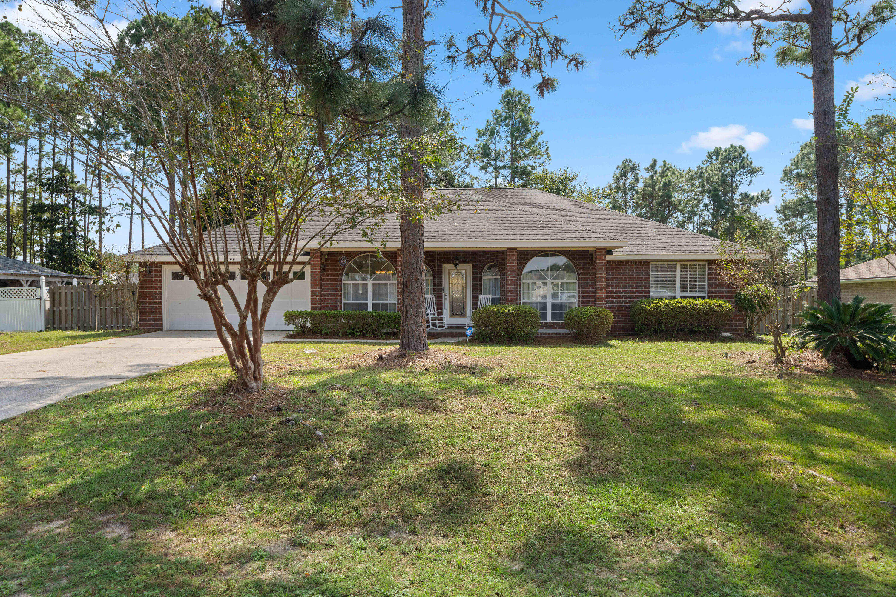
[[[724,328],[734,307],[715,299],[644,299],[632,303],[637,334],[711,334]]]

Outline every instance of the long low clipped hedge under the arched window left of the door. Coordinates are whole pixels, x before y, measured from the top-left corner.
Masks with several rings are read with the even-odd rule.
[[[390,311],[286,311],[299,336],[374,336],[398,333],[401,315]]]

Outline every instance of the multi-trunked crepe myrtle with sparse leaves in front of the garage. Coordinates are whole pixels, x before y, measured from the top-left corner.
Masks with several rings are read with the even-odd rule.
[[[380,228],[402,209],[398,180],[408,148],[385,139],[371,159],[374,125],[344,118],[322,124],[309,115],[306,91],[289,69],[220,28],[213,13],[196,10],[173,22],[148,4],[128,8],[144,30],[139,43],[129,38],[133,31],[106,26],[121,15],[90,6],[56,4],[65,18],[47,11],[41,24],[65,22],[57,55],[82,81],[66,92],[82,98],[85,117],[116,115],[146,148],[137,176],[124,146],[96,155],[125,195],[135,192],[135,179],[146,181],[142,216],[208,303],[237,387],[257,390],[265,322],[280,288],[306,267],[297,258],[349,229],[385,243]],[[90,143],[52,102],[35,108]],[[440,144],[422,138],[411,149],[426,160]],[[381,188],[362,183],[372,163],[383,170]],[[247,282],[245,296],[230,283],[233,261]]]

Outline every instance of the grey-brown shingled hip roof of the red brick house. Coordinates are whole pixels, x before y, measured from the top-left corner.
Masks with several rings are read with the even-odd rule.
[[[698,235],[675,226],[659,224],[579,200],[529,188],[434,189],[431,199],[459,204],[460,209],[426,220],[426,248],[438,249],[596,249],[613,251],[608,259],[713,259],[719,257],[719,239]],[[305,229],[311,238],[308,248],[317,248],[323,238],[310,221]],[[216,231],[228,238],[228,253],[238,258],[232,226]],[[260,234],[257,227],[254,235]],[[376,241],[387,248],[400,246],[397,218],[391,217],[377,231]],[[257,238],[257,236],[256,236]],[[327,250],[371,247],[361,229],[337,237]],[[752,250],[750,250],[752,252]],[[754,252],[760,257],[759,252]],[[752,254],[752,253],[751,253]],[[168,260],[163,245],[130,253],[134,260]]]

